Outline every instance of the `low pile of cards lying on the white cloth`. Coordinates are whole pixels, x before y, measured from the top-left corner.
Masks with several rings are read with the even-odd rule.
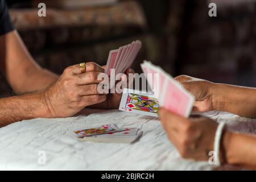
[[[90,129],[72,129],[71,134],[80,140],[105,143],[132,143],[141,137],[138,128],[118,128],[114,124],[97,126]]]

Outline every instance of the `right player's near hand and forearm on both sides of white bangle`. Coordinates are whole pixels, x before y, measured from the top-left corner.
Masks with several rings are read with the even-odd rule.
[[[163,108],[159,109],[159,117],[168,138],[183,158],[209,161],[217,122],[206,117],[183,118]],[[255,151],[255,135],[222,132],[219,156],[222,164],[256,169]]]

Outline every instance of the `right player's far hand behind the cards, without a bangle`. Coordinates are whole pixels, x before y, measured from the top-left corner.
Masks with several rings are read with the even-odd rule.
[[[179,81],[188,92],[195,96],[196,101],[192,111],[205,112],[216,110],[216,84],[186,75],[177,76],[175,79]]]

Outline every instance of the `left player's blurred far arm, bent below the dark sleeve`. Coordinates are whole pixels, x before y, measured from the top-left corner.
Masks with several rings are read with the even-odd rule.
[[[0,36],[0,69],[16,93],[42,90],[57,80],[57,75],[42,69],[27,51],[18,32]]]

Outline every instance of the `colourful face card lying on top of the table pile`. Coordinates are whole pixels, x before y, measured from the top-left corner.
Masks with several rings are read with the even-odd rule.
[[[89,137],[93,135],[101,135],[106,133],[115,133],[118,131],[123,131],[124,129],[119,129],[117,126],[110,125],[102,125],[93,128],[80,128],[80,129],[72,129],[72,133],[75,134],[76,137]]]

